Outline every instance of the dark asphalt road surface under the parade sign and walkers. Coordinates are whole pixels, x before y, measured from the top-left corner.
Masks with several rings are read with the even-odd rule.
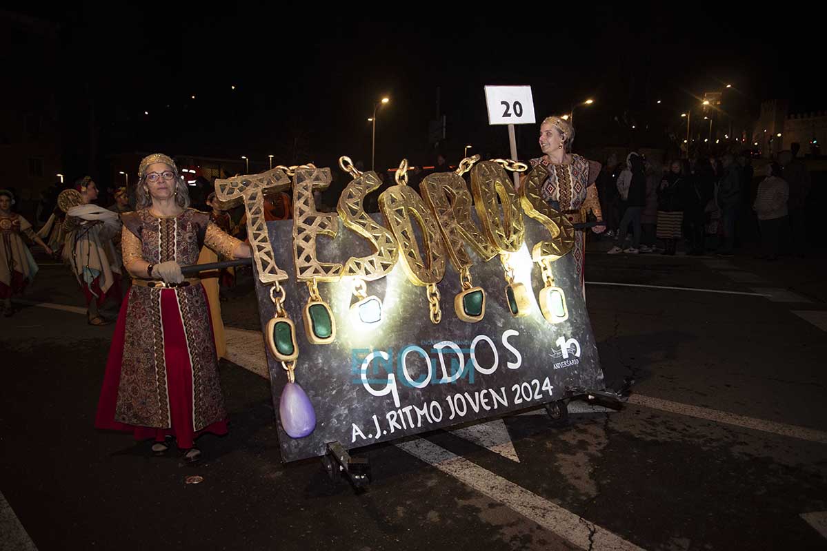
[[[365,449],[359,494],[318,460],[280,463],[260,350],[222,360],[231,432],[199,440],[203,463],[93,430],[112,325],[86,325],[69,273],[43,266],[26,300],[69,309],[0,319],[0,548],[827,549],[825,259],[586,264],[624,408]],[[250,283],[228,294],[225,322],[255,339]]]

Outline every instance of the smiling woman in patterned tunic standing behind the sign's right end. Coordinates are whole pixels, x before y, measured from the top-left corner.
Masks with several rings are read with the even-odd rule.
[[[559,116],[548,116],[540,125],[540,150],[543,157],[529,159],[532,168],[542,164],[548,170],[548,178],[541,190],[543,199],[557,211],[560,211],[573,224],[586,222],[589,212],[597,221],[603,221],[600,211],[600,197],[595,181],[600,173],[600,163],[571,153],[574,140],[574,126]],[[595,234],[605,230],[605,226],[591,228]],[[575,236],[574,256],[577,279],[580,281],[583,296],[586,286],[583,280],[583,268],[586,262],[586,232],[578,231]]]

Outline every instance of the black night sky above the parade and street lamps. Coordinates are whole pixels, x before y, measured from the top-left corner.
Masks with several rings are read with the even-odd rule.
[[[694,97],[725,83],[734,116],[757,116],[770,97],[789,99],[791,112],[827,108],[810,74],[820,69],[822,31],[802,12],[686,2],[530,12],[511,3],[464,12],[173,3],[13,8],[60,24],[62,121],[88,126],[93,111],[101,155],[165,150],[266,163],[272,153],[277,163],[333,166],[348,154],[369,164],[366,118],[387,95],[377,168],[403,156],[432,164],[437,87],[452,163],[466,144],[508,154],[504,127],[488,126],[485,84],[531,85],[538,120],[593,97],[576,113],[576,149],[624,145],[606,142],[627,140],[631,124],[652,129],[634,145],[657,141]],[[520,129],[521,155],[539,154],[536,129]]]

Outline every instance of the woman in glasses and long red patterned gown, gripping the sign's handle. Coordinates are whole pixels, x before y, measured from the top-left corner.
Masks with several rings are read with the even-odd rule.
[[[207,295],[181,266],[195,264],[202,245],[236,259],[251,249],[189,208],[187,185],[165,154],[141,161],[136,211],[122,220],[123,260],[135,279],[112,336],[95,426],[154,438],[155,454],[174,437],[193,463],[201,454],[194,439],[226,434],[227,413]]]

